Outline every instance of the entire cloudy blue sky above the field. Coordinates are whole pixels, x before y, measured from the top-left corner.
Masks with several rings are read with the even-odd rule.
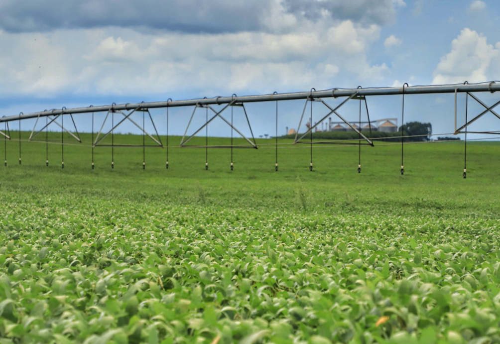
[[[0,0],[0,110],[496,80],[499,15],[494,0]],[[372,118],[401,115],[400,96],[368,101]],[[451,95],[405,104],[405,121],[452,131]],[[302,105],[280,105],[280,132]],[[353,120],[355,109],[342,110]],[[273,105],[248,110],[272,134]],[[173,111],[174,133],[191,111]],[[500,129],[490,117],[477,125]]]

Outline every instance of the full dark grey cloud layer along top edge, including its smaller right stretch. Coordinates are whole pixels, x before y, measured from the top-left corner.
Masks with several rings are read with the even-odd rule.
[[[399,0],[401,1],[401,0]],[[350,19],[364,24],[393,20],[393,0],[0,0],[0,28],[8,32],[103,26],[237,32],[268,30],[279,16]]]

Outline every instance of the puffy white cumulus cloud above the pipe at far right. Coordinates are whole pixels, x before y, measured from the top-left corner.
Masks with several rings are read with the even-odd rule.
[[[464,28],[437,64],[432,84],[487,81],[488,67],[492,60],[497,64],[498,57],[498,48],[487,44],[485,36]]]

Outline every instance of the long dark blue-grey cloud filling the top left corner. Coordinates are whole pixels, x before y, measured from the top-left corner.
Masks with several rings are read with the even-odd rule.
[[[0,0],[5,31],[146,26],[185,32],[256,30],[266,0]]]

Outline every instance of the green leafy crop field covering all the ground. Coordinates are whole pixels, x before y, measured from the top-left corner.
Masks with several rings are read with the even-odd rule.
[[[400,175],[383,143],[359,174],[357,146],[325,144],[313,172],[289,144],[278,172],[272,145],[234,149],[233,171],[228,148],[206,171],[204,148],[170,148],[168,170],[146,148],[143,170],[142,148],[114,148],[111,169],[98,147],[92,170],[81,136],[64,169],[55,142],[48,167],[45,142],[21,142],[22,165],[7,142],[2,343],[500,341],[496,142],[467,145],[463,179],[463,142],[405,145]]]

